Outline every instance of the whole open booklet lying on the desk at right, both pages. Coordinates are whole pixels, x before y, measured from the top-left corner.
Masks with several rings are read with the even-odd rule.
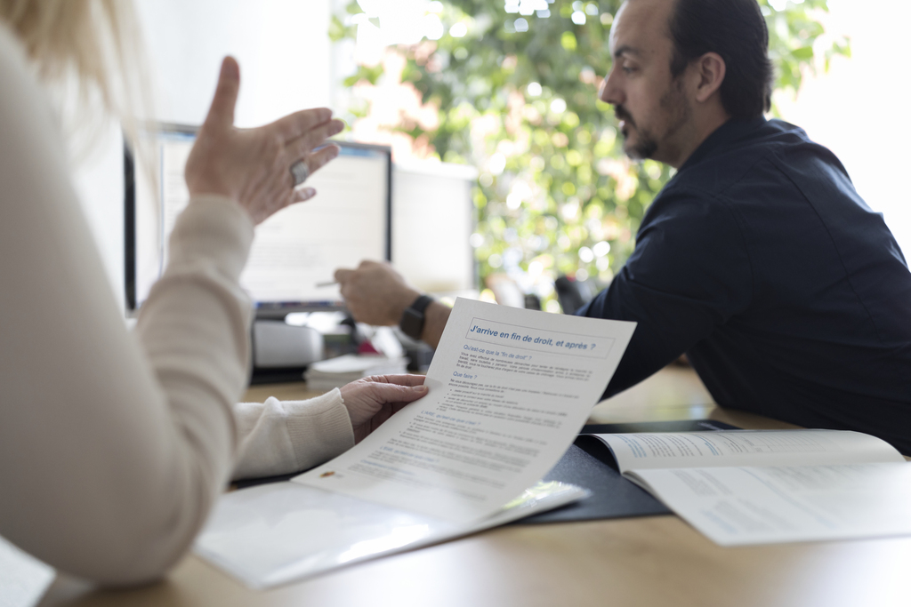
[[[594,434],[620,472],[722,546],[911,533],[911,466],[840,430]]]

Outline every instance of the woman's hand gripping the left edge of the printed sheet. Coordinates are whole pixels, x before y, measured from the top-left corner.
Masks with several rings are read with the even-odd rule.
[[[423,375],[374,375],[341,388],[354,430],[354,442],[376,430],[405,405],[425,396]]]

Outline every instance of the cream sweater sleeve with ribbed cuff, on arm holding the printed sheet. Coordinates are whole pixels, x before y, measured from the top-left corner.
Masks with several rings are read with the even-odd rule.
[[[306,470],[354,446],[337,388],[311,400],[242,402],[235,411],[241,437],[235,480]]]

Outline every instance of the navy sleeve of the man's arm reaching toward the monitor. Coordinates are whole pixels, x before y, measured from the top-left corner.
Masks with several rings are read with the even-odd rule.
[[[750,258],[730,207],[697,191],[662,192],[627,264],[577,312],[638,323],[604,398],[662,369],[751,298]]]

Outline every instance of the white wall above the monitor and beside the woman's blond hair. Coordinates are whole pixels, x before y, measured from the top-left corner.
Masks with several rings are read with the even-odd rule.
[[[158,91],[158,119],[199,124],[221,57],[241,64],[238,126],[296,109],[328,106],[330,0],[136,0]],[[76,169],[83,199],[118,301],[123,301],[122,147],[112,128]]]

